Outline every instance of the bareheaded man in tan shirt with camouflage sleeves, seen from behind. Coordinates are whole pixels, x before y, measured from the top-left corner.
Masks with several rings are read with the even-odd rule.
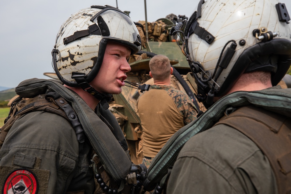
[[[162,59],[158,60],[159,58]],[[162,81],[155,79],[152,63],[162,63],[163,60],[168,61],[168,58],[158,55],[150,61],[150,75],[154,78],[154,84]],[[159,70],[161,68],[159,67]],[[170,69],[169,61],[166,68]],[[168,71],[168,75],[167,72],[163,72],[166,74],[166,79],[170,80],[171,71]],[[195,120],[197,115],[190,97],[185,92],[170,86],[171,81],[164,82],[168,84],[152,85],[149,91],[139,97],[137,103],[143,128],[139,151],[143,153],[143,164],[147,168],[171,136],[181,127]]]

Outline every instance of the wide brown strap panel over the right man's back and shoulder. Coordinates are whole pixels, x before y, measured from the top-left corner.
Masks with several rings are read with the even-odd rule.
[[[264,108],[243,106],[223,116],[226,124],[249,137],[267,156],[274,171],[278,193],[291,192],[291,119]]]

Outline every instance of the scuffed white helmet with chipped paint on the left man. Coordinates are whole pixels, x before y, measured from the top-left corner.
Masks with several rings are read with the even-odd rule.
[[[68,86],[79,86],[75,77],[91,82],[103,61],[108,41],[129,47],[135,54],[141,38],[134,22],[111,6],[91,6],[74,13],[61,26],[52,51],[54,70]]]

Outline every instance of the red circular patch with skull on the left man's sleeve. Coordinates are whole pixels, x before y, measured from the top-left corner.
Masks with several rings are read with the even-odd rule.
[[[17,169],[10,173],[4,186],[4,194],[35,194],[37,191],[36,176],[27,169]]]

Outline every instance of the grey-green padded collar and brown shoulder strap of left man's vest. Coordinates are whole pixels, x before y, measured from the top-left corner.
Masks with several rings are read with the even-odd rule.
[[[86,135],[102,165],[114,180],[123,181],[127,177],[132,163],[123,132],[121,129],[112,130],[115,126],[111,127],[111,124],[104,122],[106,120],[111,123],[115,119],[110,110],[101,107],[101,116],[97,117],[83,99],[64,88],[57,80],[28,79],[21,82],[15,88],[15,92],[19,96],[31,99],[18,104],[13,103],[13,106],[15,103],[17,106],[11,109],[10,118],[1,128],[0,143],[3,144],[9,129],[22,114],[38,110],[49,111],[70,120],[79,142],[84,141],[84,134]],[[71,116],[72,114],[74,116]],[[118,125],[116,120],[115,123]]]

